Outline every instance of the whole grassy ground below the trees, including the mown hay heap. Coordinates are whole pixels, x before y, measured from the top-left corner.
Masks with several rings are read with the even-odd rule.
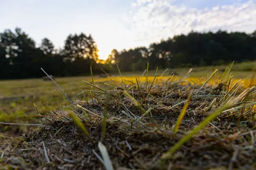
[[[157,77],[155,71],[148,71],[148,77],[140,72],[103,79],[93,76],[93,81],[91,77],[57,78],[68,98],[78,101],[76,108],[52,81],[0,81],[0,122],[6,123],[0,125],[5,148],[2,166],[107,168],[108,157],[102,161],[95,153],[106,153],[103,143],[115,169],[256,168],[256,91],[248,88],[250,78],[245,79],[252,74],[249,67],[253,63],[235,64],[229,74],[218,71],[209,82],[215,67],[194,68],[189,77],[189,68],[180,68],[174,70],[177,77],[170,77],[169,71],[159,77],[164,70],[158,70]],[[244,82],[241,86],[239,79]],[[109,91],[111,86],[119,88]],[[92,91],[79,94],[84,90]],[[223,108],[227,103],[231,106]],[[212,122],[203,123],[208,118]],[[31,124],[43,126],[30,129]],[[17,138],[18,145],[4,137],[21,136],[27,130]]]

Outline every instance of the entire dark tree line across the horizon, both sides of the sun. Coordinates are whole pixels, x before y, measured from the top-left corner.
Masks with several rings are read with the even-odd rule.
[[[70,34],[64,46],[55,48],[44,38],[40,45],[20,28],[0,33],[0,79],[42,77],[44,73],[56,77],[149,69],[222,65],[228,62],[250,61],[256,57],[256,31],[190,32],[151,43],[148,48],[113,49],[106,61],[100,60],[92,35]]]

